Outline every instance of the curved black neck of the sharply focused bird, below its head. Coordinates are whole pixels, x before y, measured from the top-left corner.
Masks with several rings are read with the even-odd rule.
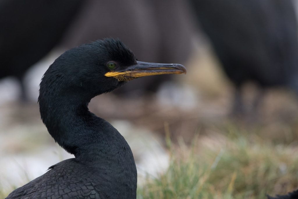
[[[129,164],[134,165],[125,139],[111,124],[91,113],[88,103],[40,98],[41,118],[50,135],[78,161],[108,164],[123,159],[123,162],[131,160]]]

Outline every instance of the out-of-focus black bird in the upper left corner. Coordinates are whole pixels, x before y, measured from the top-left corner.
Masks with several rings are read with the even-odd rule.
[[[0,2],[0,78],[14,76],[27,100],[24,75],[57,45],[82,0]]]

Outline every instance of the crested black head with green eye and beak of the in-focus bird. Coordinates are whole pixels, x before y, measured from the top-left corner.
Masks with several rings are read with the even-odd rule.
[[[91,100],[135,78],[186,73],[180,64],[137,61],[134,53],[120,40],[105,38],[66,51],[49,67],[40,85],[55,95],[78,95]]]

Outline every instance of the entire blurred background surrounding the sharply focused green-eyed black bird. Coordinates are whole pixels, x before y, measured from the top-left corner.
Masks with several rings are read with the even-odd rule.
[[[72,157],[42,124],[39,83],[65,50],[105,37],[139,61],[187,68],[89,104],[131,146],[138,198],[296,189],[297,10],[297,0],[1,0],[0,198]]]

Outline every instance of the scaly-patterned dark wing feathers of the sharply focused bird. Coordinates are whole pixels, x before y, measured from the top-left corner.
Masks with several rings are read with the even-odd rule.
[[[15,189],[6,199],[107,198],[81,169],[54,165],[44,175]]]

